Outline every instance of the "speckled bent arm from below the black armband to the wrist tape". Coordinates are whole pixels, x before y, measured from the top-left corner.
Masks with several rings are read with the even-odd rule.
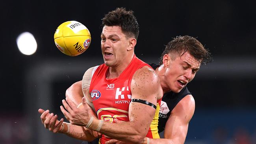
[[[144,111],[142,112],[141,109]],[[155,109],[145,104],[132,103],[129,111],[130,121],[120,123],[104,121],[99,132],[124,142],[138,144],[143,142],[153,120]],[[141,116],[142,113],[143,116]]]

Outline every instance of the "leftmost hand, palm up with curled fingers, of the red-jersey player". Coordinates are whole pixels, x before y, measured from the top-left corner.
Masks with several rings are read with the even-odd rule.
[[[50,113],[49,110],[39,109],[38,112],[41,114],[40,118],[42,124],[45,126],[46,129],[52,131],[53,133],[58,133],[63,131],[63,118],[61,120],[57,120],[58,116],[54,113]]]

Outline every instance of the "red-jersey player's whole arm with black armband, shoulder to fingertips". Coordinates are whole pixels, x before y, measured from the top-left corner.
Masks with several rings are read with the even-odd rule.
[[[132,99],[145,100],[156,105],[157,97],[161,97],[162,89],[156,72],[148,67],[137,70],[131,82]],[[87,92],[89,95],[89,93]],[[89,98],[89,96],[88,96]],[[131,102],[129,106],[129,122],[109,123],[93,117],[87,110],[89,106],[83,97],[83,109],[77,109],[74,103],[68,98],[63,100],[61,106],[62,113],[67,116],[72,124],[87,126],[87,128],[96,130],[108,137],[140,144],[150,127],[150,123],[155,115],[156,109],[150,105]]]

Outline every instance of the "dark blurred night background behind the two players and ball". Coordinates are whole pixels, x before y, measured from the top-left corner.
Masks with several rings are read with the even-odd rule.
[[[247,0],[1,2],[0,143],[81,143],[44,129],[37,109],[61,113],[65,90],[81,80],[87,68],[103,62],[101,18],[126,7],[140,25],[137,57],[158,63],[165,44],[178,35],[197,37],[213,56],[188,84],[196,110],[185,143],[255,144],[255,6]],[[84,24],[92,37],[88,50],[76,57],[62,54],[54,44],[54,31],[69,20]],[[16,39],[24,31],[37,41],[33,55],[18,50]]]

